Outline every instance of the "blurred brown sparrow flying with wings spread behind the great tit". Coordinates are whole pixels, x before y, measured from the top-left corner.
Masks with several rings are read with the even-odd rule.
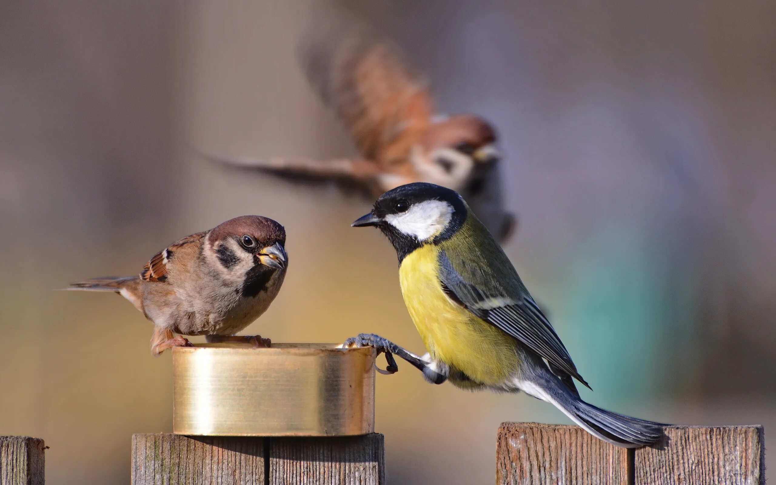
[[[504,211],[493,126],[472,114],[439,115],[424,78],[391,43],[358,23],[324,19],[310,26],[300,62],[360,158],[203,155],[291,178],[350,182],[373,197],[410,182],[433,182],[461,192],[493,234],[508,238],[514,217]]]

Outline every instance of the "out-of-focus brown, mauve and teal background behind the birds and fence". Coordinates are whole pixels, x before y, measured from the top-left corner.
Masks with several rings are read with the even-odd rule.
[[[245,213],[283,223],[292,260],[246,333],[375,331],[422,352],[393,249],[348,227],[368,200],[188,147],[354,154],[296,62],[303,27],[335,7],[398,43],[443,112],[497,126],[520,220],[505,250],[595,389],[583,397],[656,421],[776,424],[776,4],[10,0],[0,435],[44,438],[51,483],[126,483],[131,435],[171,431],[171,356],[151,358],[151,324],[119,296],[52,289],[135,274]],[[567,422],[407,365],[378,376],[389,483],[490,482],[501,421]]]

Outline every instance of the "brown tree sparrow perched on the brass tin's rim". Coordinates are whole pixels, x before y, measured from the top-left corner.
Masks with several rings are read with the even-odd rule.
[[[234,336],[275,300],[286,276],[286,230],[272,219],[241,216],[178,239],[147,262],[138,276],[88,279],[68,289],[112,291],[130,300],[154,325],[151,353],[191,345],[182,335],[213,341]],[[175,334],[178,334],[174,336]]]

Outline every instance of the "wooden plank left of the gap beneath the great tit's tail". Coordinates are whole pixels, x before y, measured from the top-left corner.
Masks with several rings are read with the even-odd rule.
[[[628,450],[578,426],[501,423],[496,444],[496,483],[626,485]]]

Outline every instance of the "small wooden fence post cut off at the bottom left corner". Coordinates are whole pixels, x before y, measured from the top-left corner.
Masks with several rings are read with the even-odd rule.
[[[46,444],[29,436],[0,436],[0,483],[43,485],[46,482]]]

